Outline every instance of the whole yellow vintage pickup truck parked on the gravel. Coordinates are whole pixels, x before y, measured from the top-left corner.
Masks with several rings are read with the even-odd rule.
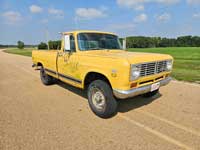
[[[43,84],[59,79],[86,89],[91,110],[102,118],[116,114],[116,99],[157,94],[173,66],[169,55],[128,52],[118,36],[99,31],[64,32],[60,50],[34,50],[32,60]]]

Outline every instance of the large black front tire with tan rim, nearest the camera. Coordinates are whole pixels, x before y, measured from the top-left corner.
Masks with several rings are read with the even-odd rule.
[[[111,87],[102,80],[93,81],[88,87],[88,102],[91,110],[101,118],[111,118],[117,113],[118,103]]]

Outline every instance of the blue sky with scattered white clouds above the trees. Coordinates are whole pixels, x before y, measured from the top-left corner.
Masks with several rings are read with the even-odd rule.
[[[0,44],[38,44],[79,29],[200,36],[200,0],[0,0]]]

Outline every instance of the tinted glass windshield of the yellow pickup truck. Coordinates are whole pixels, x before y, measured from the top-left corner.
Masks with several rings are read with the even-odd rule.
[[[82,51],[102,49],[122,49],[117,36],[101,33],[78,34],[78,45]]]

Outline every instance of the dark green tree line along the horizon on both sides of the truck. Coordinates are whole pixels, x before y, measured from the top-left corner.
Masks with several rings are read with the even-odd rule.
[[[122,38],[120,41],[122,43]],[[35,47],[35,45],[25,45],[22,41],[18,41],[17,45],[1,45],[0,48],[18,47]],[[48,44],[41,42],[38,49],[60,49],[61,41],[49,41]],[[151,47],[200,47],[200,36],[180,36],[177,38],[161,38],[161,37],[145,37],[130,36],[126,38],[127,48],[151,48]]]

